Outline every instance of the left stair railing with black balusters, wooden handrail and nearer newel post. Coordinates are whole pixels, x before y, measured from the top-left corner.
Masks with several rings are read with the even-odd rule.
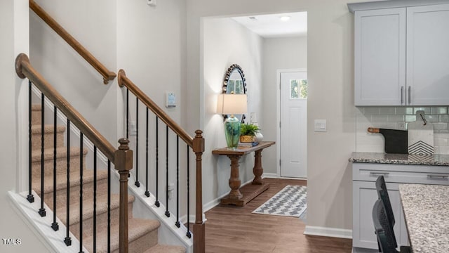
[[[107,240],[108,242],[110,242],[110,225],[111,225],[111,220],[110,220],[110,164],[112,162],[112,164],[115,165],[115,169],[117,171],[119,171],[120,174],[120,197],[119,197],[119,202],[120,202],[120,207],[119,207],[119,252],[121,253],[127,253],[128,252],[128,175],[129,175],[129,171],[130,169],[133,168],[133,151],[129,149],[128,147],[128,143],[129,141],[126,138],[121,138],[119,140],[120,146],[118,149],[114,148],[114,146],[109,143],[109,141],[107,141],[107,139],[105,137],[103,137],[86,119],[84,119],[79,112],[77,112],[72,105],[70,105],[67,100],[65,100],[65,98],[62,98],[62,96],[55,91],[55,89],[53,89],[53,87],[46,81],[46,79],[43,79],[43,77],[41,77],[41,74],[39,74],[39,72],[37,72],[34,67],[32,67],[32,65],[29,63],[29,58],[25,55],[25,53],[20,53],[18,55],[18,57],[15,60],[15,71],[18,74],[18,77],[24,79],[25,77],[29,79],[29,158],[30,158],[30,162],[29,162],[29,191],[28,191],[28,196],[27,196],[27,200],[29,202],[34,202],[34,195],[32,194],[32,162],[31,162],[31,156],[32,156],[32,129],[31,129],[31,119],[32,119],[32,115],[31,115],[31,110],[32,110],[32,99],[31,99],[31,94],[32,94],[32,84],[34,84],[34,86],[36,86],[37,89],[39,89],[42,93],[41,95],[41,168],[40,168],[40,172],[41,172],[41,179],[40,180],[40,188],[41,188],[41,208],[39,209],[39,214],[41,216],[46,216],[46,209],[45,206],[43,204],[43,199],[44,199],[44,186],[46,185],[46,182],[44,182],[43,178],[43,174],[44,174],[44,170],[48,169],[46,167],[48,167],[48,165],[44,166],[43,164],[43,146],[44,146],[44,137],[43,137],[43,132],[44,132],[44,97],[48,98],[49,100],[51,100],[51,103],[53,103],[54,105],[54,109],[55,109],[55,115],[56,115],[56,110],[62,112],[66,117],[67,117],[67,199],[66,200],[70,200],[70,184],[69,184],[69,175],[70,175],[70,167],[71,167],[71,161],[69,158],[69,154],[71,153],[70,151],[70,144],[69,144],[69,127],[70,127],[70,123],[74,124],[80,131],[80,190],[79,190],[79,197],[80,197],[80,209],[79,209],[79,219],[81,222],[79,222],[79,242],[80,242],[80,249],[79,252],[83,252],[83,222],[82,222],[82,216],[83,216],[83,205],[82,205],[82,200],[83,200],[83,188],[82,188],[82,181],[83,181],[83,136],[86,136],[94,145],[94,153],[96,153],[96,150],[98,148],[98,150],[100,150],[103,155],[105,155],[105,157],[107,157],[108,160],[108,221],[107,221],[107,226],[108,226],[108,235],[107,235]],[[56,122],[56,119],[55,119]],[[55,185],[56,182],[56,140],[57,137],[53,136],[53,141],[54,141],[54,150],[53,150],[53,184]],[[96,155],[96,154],[95,154]],[[95,157],[94,157],[94,160]],[[94,210],[95,210],[95,196],[97,195],[97,193],[95,192],[95,186],[96,186],[96,164],[94,163],[94,193],[93,193],[93,206],[94,206]],[[38,181],[39,181],[38,180]],[[54,187],[55,188],[55,187]],[[51,227],[53,228],[53,230],[58,231],[59,226],[58,223],[56,222],[55,219],[55,212],[56,212],[56,190],[53,190],[53,211],[54,211],[54,217],[53,217],[53,223],[51,224]],[[64,238],[64,242],[67,246],[72,245],[72,238],[70,238],[69,236],[69,201],[67,201],[67,219],[66,221],[66,228],[67,228],[67,237]],[[93,233],[95,234],[95,215],[94,215],[94,221],[93,221],[93,227],[94,227],[94,231]],[[94,235],[93,238],[93,252],[95,252],[95,248],[96,248],[96,237]],[[108,252],[110,252],[110,243],[108,243]]]

